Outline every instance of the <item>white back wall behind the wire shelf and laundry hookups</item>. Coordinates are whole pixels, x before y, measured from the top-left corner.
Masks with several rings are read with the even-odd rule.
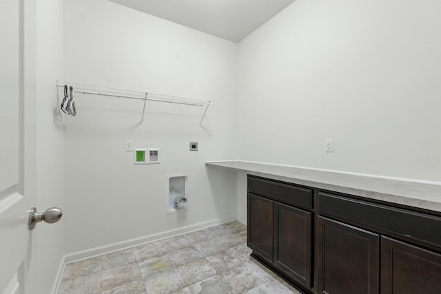
[[[67,81],[214,101],[199,127],[191,107],[76,94],[65,116],[66,253],[236,219],[236,177],[205,161],[236,157],[237,45],[105,0],[66,0]],[[134,147],[161,149],[133,165]],[[190,152],[197,141],[199,151]],[[189,176],[191,209],[166,215],[170,174]]]

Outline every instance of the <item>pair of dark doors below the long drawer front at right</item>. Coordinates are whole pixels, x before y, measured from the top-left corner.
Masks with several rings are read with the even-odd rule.
[[[441,255],[433,251],[321,216],[317,248],[316,293],[441,293]]]

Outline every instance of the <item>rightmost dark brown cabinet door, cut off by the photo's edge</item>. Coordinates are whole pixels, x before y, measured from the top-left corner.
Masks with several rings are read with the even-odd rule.
[[[440,294],[441,255],[381,238],[381,294]]]

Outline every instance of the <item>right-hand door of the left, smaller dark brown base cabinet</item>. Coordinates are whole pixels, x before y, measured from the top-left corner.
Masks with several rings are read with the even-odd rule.
[[[312,213],[274,202],[274,267],[311,288]]]

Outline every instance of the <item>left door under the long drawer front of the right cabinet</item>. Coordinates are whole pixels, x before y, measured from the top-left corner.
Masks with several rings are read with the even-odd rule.
[[[379,239],[375,233],[318,216],[317,293],[378,294]]]

